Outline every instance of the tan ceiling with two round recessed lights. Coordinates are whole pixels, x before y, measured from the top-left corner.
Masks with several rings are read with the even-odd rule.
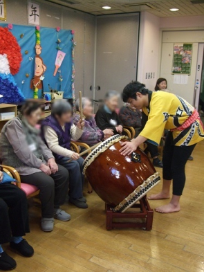
[[[109,15],[125,12],[150,12],[158,17],[180,17],[204,15],[204,0],[46,0],[60,5],[91,13],[93,15]],[[103,10],[102,6],[111,6],[111,10]],[[169,8],[179,8],[177,12]]]

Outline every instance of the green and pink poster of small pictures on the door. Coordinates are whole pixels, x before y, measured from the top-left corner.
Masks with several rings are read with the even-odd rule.
[[[172,73],[190,75],[192,64],[192,44],[174,44]]]

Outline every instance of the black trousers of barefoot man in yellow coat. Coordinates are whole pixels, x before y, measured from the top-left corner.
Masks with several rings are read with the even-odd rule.
[[[180,196],[185,185],[185,164],[195,145],[173,145],[172,132],[167,133],[163,150],[163,179],[173,179],[173,194]]]

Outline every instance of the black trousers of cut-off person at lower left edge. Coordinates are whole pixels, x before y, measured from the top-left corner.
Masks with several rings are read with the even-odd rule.
[[[16,185],[0,184],[0,244],[29,232],[26,194]]]

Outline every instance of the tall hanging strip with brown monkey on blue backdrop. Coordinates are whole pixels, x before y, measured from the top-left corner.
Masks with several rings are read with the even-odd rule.
[[[36,36],[36,44],[35,44],[35,74],[34,78],[30,82],[30,88],[34,90],[33,98],[38,98],[38,90],[43,90],[43,80],[45,78],[44,73],[47,69],[44,61],[39,56],[41,54],[41,45],[40,45],[40,33],[39,26],[36,26],[35,36]]]

